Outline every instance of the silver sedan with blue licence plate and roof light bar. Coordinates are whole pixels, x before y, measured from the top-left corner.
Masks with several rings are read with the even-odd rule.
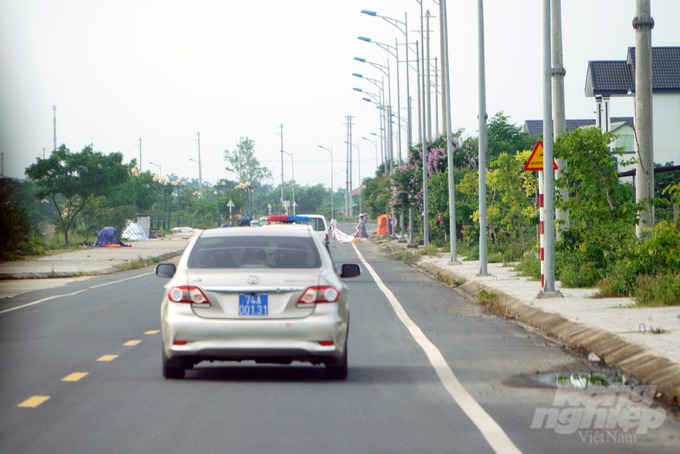
[[[179,263],[160,263],[170,278],[161,304],[163,376],[183,378],[201,361],[326,366],[347,377],[349,306],[318,235],[306,225],[198,232]]]

